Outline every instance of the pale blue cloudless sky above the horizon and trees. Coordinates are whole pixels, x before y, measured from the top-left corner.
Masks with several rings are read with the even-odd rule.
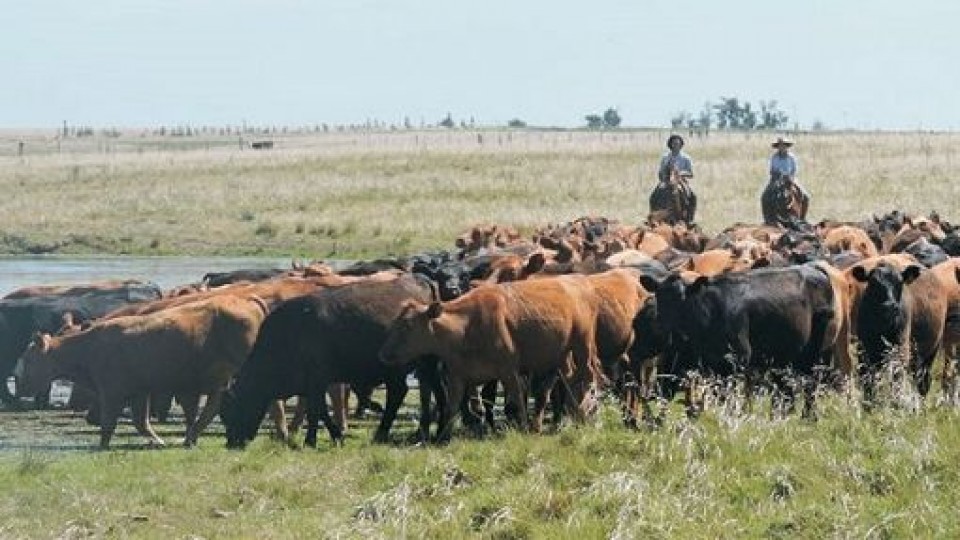
[[[4,2],[0,127],[624,124],[738,96],[809,125],[960,129],[960,2]]]

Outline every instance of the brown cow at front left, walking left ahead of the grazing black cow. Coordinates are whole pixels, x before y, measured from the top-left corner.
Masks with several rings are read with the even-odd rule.
[[[266,304],[255,296],[225,295],[97,322],[75,334],[42,334],[20,358],[17,375],[28,388],[43,388],[56,378],[93,386],[100,401],[101,448],[109,447],[127,401],[137,430],[162,445],[150,425],[149,395],[193,395],[194,401],[182,404],[184,444],[190,446],[218,412],[221,394],[246,360],[266,314]],[[201,394],[207,401],[196,418]]]

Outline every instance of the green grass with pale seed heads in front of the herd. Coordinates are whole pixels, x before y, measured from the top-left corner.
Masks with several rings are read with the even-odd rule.
[[[261,438],[228,452],[211,436],[190,451],[5,454],[0,536],[960,535],[956,410],[866,414],[835,395],[818,422],[729,410],[631,432],[607,401],[593,425],[441,448],[360,430],[342,449]]]

